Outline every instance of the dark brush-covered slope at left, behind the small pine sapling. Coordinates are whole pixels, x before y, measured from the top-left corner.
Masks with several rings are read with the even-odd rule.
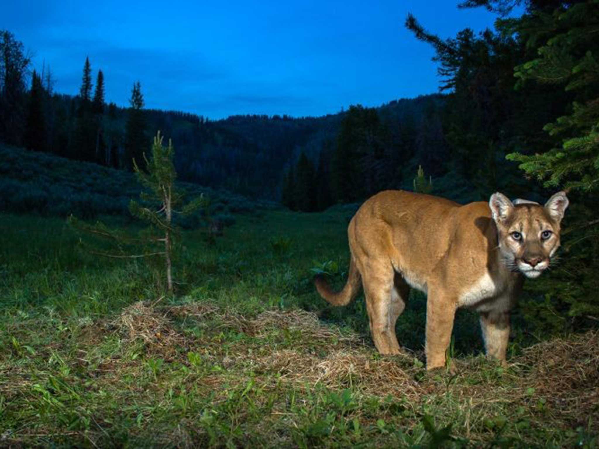
[[[219,216],[277,207],[198,184],[181,187],[190,197],[207,195],[211,210]],[[0,145],[0,211],[87,219],[101,214],[129,216],[129,201],[139,197],[140,189],[126,171]]]

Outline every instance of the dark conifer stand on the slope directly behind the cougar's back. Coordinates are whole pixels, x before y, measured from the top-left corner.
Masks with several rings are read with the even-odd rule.
[[[392,101],[379,108],[351,106],[317,151],[303,148],[283,178],[282,202],[293,210],[320,211],[358,202],[383,189],[412,184],[416,168],[446,172],[441,123],[444,96]]]

